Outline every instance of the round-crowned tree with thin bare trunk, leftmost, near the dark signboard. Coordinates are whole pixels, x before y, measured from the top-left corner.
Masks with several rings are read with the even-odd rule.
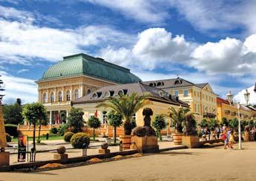
[[[45,107],[40,103],[27,103],[22,109],[22,115],[31,124],[33,124],[33,148],[32,152],[36,151],[36,124],[40,121],[47,120]]]

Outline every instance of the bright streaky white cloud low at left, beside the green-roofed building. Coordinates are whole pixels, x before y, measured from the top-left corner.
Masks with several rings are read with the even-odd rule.
[[[0,75],[4,81],[4,103],[13,103],[17,98],[21,98],[22,103],[37,101],[37,85],[33,80],[14,77],[3,71],[0,71]]]

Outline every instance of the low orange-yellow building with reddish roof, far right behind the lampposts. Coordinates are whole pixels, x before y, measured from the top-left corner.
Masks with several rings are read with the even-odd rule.
[[[217,98],[217,120],[233,120],[238,117],[237,103],[229,103],[228,100]],[[256,120],[256,109],[252,106],[240,105],[241,120]]]

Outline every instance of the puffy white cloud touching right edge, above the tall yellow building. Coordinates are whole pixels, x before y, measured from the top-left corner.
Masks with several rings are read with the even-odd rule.
[[[209,73],[230,75],[255,72],[255,35],[243,43],[236,38],[226,38],[218,42],[202,44],[191,53],[191,66]]]

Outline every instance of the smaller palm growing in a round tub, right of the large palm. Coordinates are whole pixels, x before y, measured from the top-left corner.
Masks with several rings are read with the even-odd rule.
[[[174,145],[180,145],[182,143],[183,136],[183,121],[189,109],[180,107],[178,110],[171,107],[169,109],[169,116],[174,123],[175,133],[173,134]]]

